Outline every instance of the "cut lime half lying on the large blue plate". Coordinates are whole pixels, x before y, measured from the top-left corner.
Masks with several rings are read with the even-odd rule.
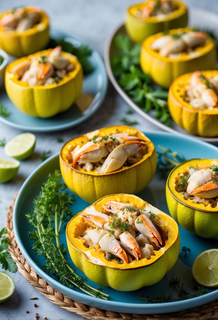
[[[218,286],[218,249],[201,252],[192,265],[192,275],[206,287]]]

